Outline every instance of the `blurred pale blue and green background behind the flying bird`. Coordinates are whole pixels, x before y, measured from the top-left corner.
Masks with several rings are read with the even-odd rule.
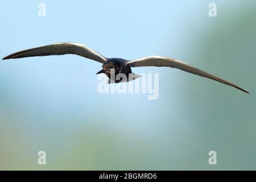
[[[159,73],[158,100],[99,94],[94,61],[2,61],[0,169],[256,169],[256,1],[44,1],[45,18],[38,3],[0,2],[1,57],[79,42],[106,57],[184,60],[251,94],[170,68],[133,69]]]

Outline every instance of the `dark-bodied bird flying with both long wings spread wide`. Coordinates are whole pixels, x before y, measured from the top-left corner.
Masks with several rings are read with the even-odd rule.
[[[113,80],[113,78],[111,77],[111,73],[114,73],[114,76],[117,76],[118,73],[123,73],[126,76],[128,76],[129,74],[133,73],[131,71],[131,68],[134,68],[134,67],[170,67],[170,68],[180,69],[181,71],[189,72],[194,75],[206,77],[214,81],[221,82],[222,84],[233,86],[234,88],[242,90],[245,93],[249,93],[245,89],[242,89],[239,86],[232,84],[231,82],[223,80],[217,76],[213,76],[201,69],[192,67],[191,65],[183,63],[180,60],[172,59],[170,57],[148,56],[148,57],[141,57],[135,60],[125,60],[121,58],[107,58],[102,56],[97,51],[94,51],[93,49],[79,43],[61,42],[61,43],[49,44],[47,46],[42,46],[42,47],[26,49],[26,50],[15,52],[8,56],[5,56],[3,57],[3,60],[17,59],[22,57],[66,55],[66,54],[79,55],[87,59],[91,59],[101,63],[102,69],[96,74],[105,73],[105,75],[109,77],[109,80],[112,79],[112,81],[114,81],[115,83],[120,82],[120,80]],[[114,72],[112,72],[112,70]]]

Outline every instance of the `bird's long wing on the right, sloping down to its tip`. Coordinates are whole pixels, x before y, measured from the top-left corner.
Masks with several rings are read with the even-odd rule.
[[[135,59],[133,61],[128,61],[127,65],[130,67],[171,67],[171,68],[177,68],[181,69],[185,72],[193,73],[195,75],[203,76],[210,78],[212,80],[221,82],[222,84],[233,86],[234,88],[237,88],[239,90],[242,90],[243,92],[249,93],[246,90],[240,88],[237,85],[234,85],[228,81],[222,80],[221,78],[218,78],[216,76],[210,75],[207,72],[204,72],[200,69],[197,69],[195,67],[191,67],[191,65],[185,64],[179,60],[171,59],[168,57],[160,57],[160,56],[150,56],[150,57],[142,57],[139,59]]]

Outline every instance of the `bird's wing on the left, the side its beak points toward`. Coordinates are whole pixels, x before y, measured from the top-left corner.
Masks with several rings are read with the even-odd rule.
[[[26,49],[24,51],[19,51],[12,53],[5,59],[16,59],[22,57],[32,57],[32,56],[49,56],[49,55],[65,55],[65,54],[74,54],[88,59],[98,61],[100,63],[105,63],[106,58],[100,53],[94,51],[93,49],[86,47],[78,43],[56,43],[48,46],[36,47],[31,49]]]

